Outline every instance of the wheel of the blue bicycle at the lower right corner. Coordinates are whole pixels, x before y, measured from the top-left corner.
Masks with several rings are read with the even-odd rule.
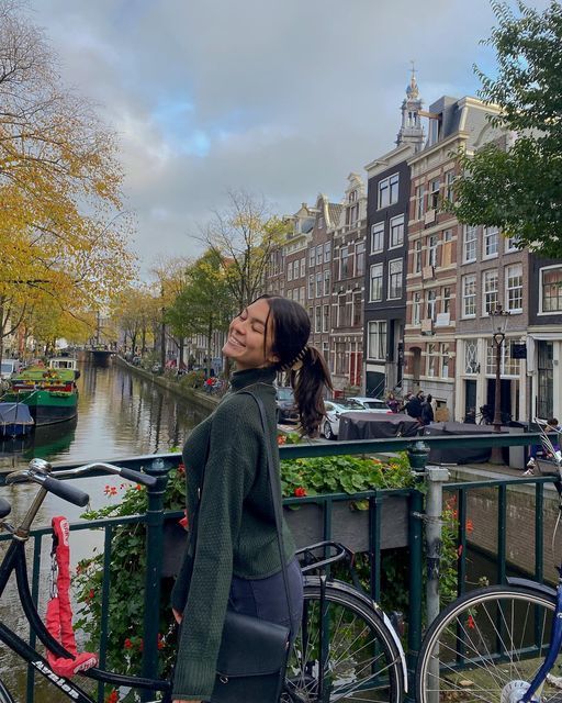
[[[519,701],[548,652],[554,609],[554,598],[524,587],[492,585],[454,601],[424,638],[416,701]],[[541,702],[561,700],[561,688],[559,656]]]

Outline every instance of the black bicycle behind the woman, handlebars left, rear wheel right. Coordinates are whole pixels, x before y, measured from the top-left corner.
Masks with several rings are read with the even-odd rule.
[[[11,506],[0,498],[0,531],[12,535],[0,563],[0,598],[10,576],[16,577],[18,598],[31,632],[57,657],[70,655],[44,625],[32,599],[27,580],[25,545],[34,518],[50,492],[79,506],[89,496],[64,479],[90,471],[117,473],[145,486],[154,486],[153,477],[106,462],[53,470],[43,459],[33,459],[24,470],[7,477],[7,483],[35,482],[40,489],[18,527],[5,522]],[[317,553],[322,553],[317,555]],[[304,609],[301,631],[293,646],[282,701],[284,703],[328,703],[335,701],[386,701],[400,703],[407,687],[404,650],[390,618],[364,591],[358,589],[352,553],[337,543],[319,543],[299,551],[304,576]],[[347,561],[356,585],[331,578],[331,565]],[[66,699],[77,703],[94,703],[82,685],[58,676],[47,659],[34,647],[0,622],[0,641],[31,665]],[[153,703],[170,703],[171,683],[162,679],[124,676],[98,667],[80,671],[77,678],[110,684],[115,689],[149,691]],[[363,698],[364,696],[364,698]],[[57,699],[58,700],[58,699]],[[0,703],[15,703],[8,685],[0,679]]]

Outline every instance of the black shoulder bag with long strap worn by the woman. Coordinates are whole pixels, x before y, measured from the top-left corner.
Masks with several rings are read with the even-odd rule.
[[[261,426],[266,438],[269,484],[276,515],[279,557],[285,588],[286,603],[291,613],[289,580],[284,557],[281,522],[281,495],[276,490],[273,456],[266,424],[266,410],[259,398],[248,391],[259,408]],[[203,492],[204,475],[200,490]],[[191,567],[195,555],[199,505],[192,520],[190,544]],[[290,629],[250,615],[226,611],[223,637],[216,662],[216,679],[211,703],[278,703],[283,689],[286,659],[290,648]]]

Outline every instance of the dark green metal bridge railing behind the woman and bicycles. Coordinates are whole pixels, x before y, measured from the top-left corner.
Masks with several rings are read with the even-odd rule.
[[[411,464],[413,468],[419,473],[420,489],[424,482],[424,469],[428,457],[429,446],[436,448],[475,448],[475,447],[491,447],[491,446],[525,446],[529,444],[539,444],[540,435],[538,433],[525,433],[525,434],[503,434],[501,436],[488,434],[480,435],[477,437],[472,436],[448,436],[448,437],[412,437],[412,438],[393,438],[393,439],[373,439],[369,442],[353,440],[353,442],[340,442],[340,443],[301,443],[297,445],[285,445],[280,447],[281,459],[295,459],[306,457],[323,457],[333,455],[358,455],[358,454],[380,454],[406,450],[408,451]],[[143,650],[143,668],[142,673],[146,677],[156,677],[158,670],[158,609],[151,606],[154,602],[160,596],[160,573],[162,565],[162,527],[166,517],[164,511],[164,494],[166,491],[166,484],[168,481],[168,472],[170,469],[178,466],[181,456],[179,454],[165,454],[159,456],[142,456],[133,457],[128,459],[119,459],[115,461],[119,466],[144,470],[147,473],[156,476],[158,478],[156,487],[148,489],[148,509],[146,515],[130,516],[120,518],[108,518],[95,522],[85,522],[71,524],[71,531],[82,529],[103,529],[104,531],[104,565],[105,572],[109,572],[109,565],[111,563],[111,542],[112,534],[116,526],[132,523],[145,523],[146,524],[146,545],[147,545],[147,560],[146,560],[146,577],[145,577],[145,614],[144,614],[144,650]],[[78,466],[77,464],[57,464],[57,468],[71,468]],[[4,484],[4,476],[0,473],[0,487]],[[92,476],[95,476],[93,473]],[[101,473],[99,476],[102,476]],[[498,535],[505,532],[505,513],[506,513],[506,490],[507,487],[515,483],[526,483],[535,481],[537,507],[541,507],[543,504],[544,483],[551,481],[549,478],[539,479],[507,479],[505,481],[479,481],[474,483],[449,483],[446,484],[447,491],[456,491],[459,500],[459,544],[463,546],[462,554],[459,559],[459,591],[462,590],[464,582],[467,563],[465,563],[465,545],[467,545],[467,532],[465,532],[465,514],[467,514],[467,500],[469,491],[481,487],[490,488],[492,486],[497,487],[498,490]],[[396,490],[374,490],[358,493],[356,495],[349,494],[331,494],[331,495],[315,495],[305,498],[291,498],[285,499],[286,505],[306,503],[316,503],[322,506],[323,510],[323,526],[324,538],[329,539],[331,537],[331,513],[333,507],[339,501],[359,500],[366,499],[369,501],[369,556],[370,556],[370,590],[374,600],[379,600],[380,596],[380,582],[381,582],[381,549],[380,549],[380,532],[381,532],[381,505],[384,500],[390,495],[403,495],[408,500],[408,569],[409,569],[409,612],[408,612],[408,640],[407,640],[407,658],[408,670],[411,677],[415,670],[415,662],[417,652],[419,650],[422,641],[422,613],[423,613],[423,512],[424,512],[424,496],[422,490],[416,489],[396,489]],[[537,544],[537,557],[536,557],[536,576],[542,578],[542,529],[541,517],[539,510],[536,514],[536,544]],[[171,515],[172,516],[172,515]],[[179,516],[179,514],[178,514]],[[42,539],[46,535],[50,534],[50,529],[42,527],[32,532],[33,539],[33,577],[32,577],[32,591],[35,602],[38,598],[38,579],[41,569],[41,551]],[[0,543],[9,539],[9,535],[0,535]],[[506,557],[505,557],[505,538],[501,537],[498,545],[498,578],[505,579],[506,572]],[[106,633],[110,626],[108,622],[109,617],[109,596],[110,584],[108,579],[104,579],[102,585],[102,641],[100,643],[100,666],[103,666],[105,659],[106,649]],[[32,641],[33,644],[33,641]],[[29,673],[29,685],[26,701],[33,703],[33,673]],[[99,701],[103,700],[102,688],[99,688]]]

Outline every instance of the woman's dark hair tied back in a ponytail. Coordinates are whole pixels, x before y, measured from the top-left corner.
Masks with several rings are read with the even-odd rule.
[[[289,372],[301,415],[302,434],[314,437],[326,414],[325,390],[331,390],[328,367],[323,355],[307,345],[311,321],[305,309],[280,295],[261,298],[269,303],[273,324],[271,350],[278,358],[277,366]]]

